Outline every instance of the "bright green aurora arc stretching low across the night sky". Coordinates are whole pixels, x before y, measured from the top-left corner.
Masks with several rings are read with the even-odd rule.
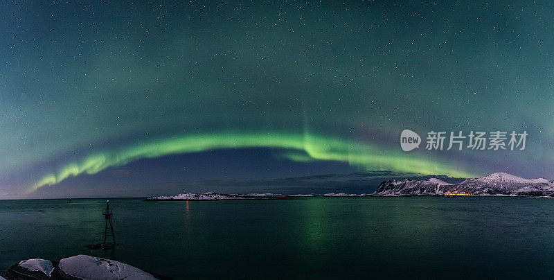
[[[286,133],[214,133],[186,135],[160,139],[134,146],[98,152],[81,161],[65,164],[57,172],[42,176],[30,191],[41,186],[53,185],[68,177],[81,174],[96,174],[111,166],[123,166],[131,161],[164,155],[202,152],[223,148],[285,148],[294,152],[285,155],[293,161],[344,161],[361,168],[393,170],[422,174],[440,174],[453,177],[476,177],[472,173],[429,159],[414,158],[406,154],[377,148],[366,143],[357,143],[339,138],[321,137],[314,134]],[[299,155],[298,152],[305,152]]]

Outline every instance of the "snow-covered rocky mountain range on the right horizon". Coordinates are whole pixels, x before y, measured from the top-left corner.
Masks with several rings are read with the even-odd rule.
[[[508,173],[492,173],[484,177],[449,184],[442,180],[388,180],[377,187],[375,195],[528,195],[554,196],[554,183],[544,178],[525,179]]]

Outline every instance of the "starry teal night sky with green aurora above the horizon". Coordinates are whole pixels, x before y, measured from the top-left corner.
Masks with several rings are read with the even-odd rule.
[[[0,198],[554,178],[554,3],[146,2],[0,3]],[[404,129],[528,137],[404,152]]]

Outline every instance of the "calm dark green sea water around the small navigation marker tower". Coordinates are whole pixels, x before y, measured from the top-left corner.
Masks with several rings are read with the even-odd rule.
[[[0,200],[0,268],[104,256],[177,279],[552,278],[554,200]]]

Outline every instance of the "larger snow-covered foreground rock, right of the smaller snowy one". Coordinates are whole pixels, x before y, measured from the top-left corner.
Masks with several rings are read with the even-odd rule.
[[[66,277],[63,279],[156,279],[134,266],[87,255],[60,260],[54,273],[58,277]]]

